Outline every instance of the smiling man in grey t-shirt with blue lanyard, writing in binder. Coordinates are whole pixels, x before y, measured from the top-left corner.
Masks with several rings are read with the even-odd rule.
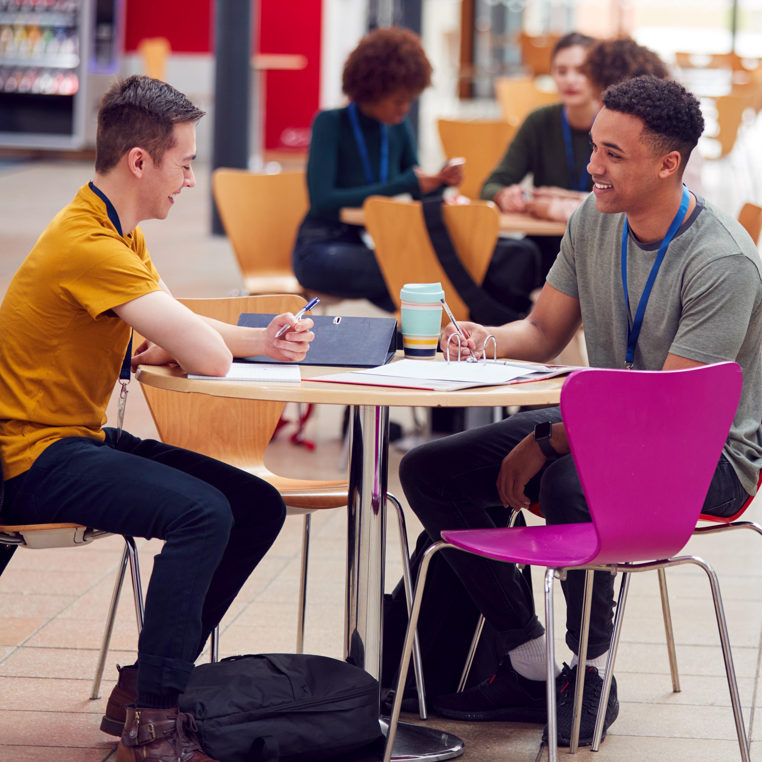
[[[685,161],[703,130],[696,98],[677,82],[644,76],[609,88],[603,103],[591,130],[594,196],[571,216],[535,309],[499,328],[461,325],[472,349],[481,350],[494,334],[501,357],[543,363],[583,322],[594,367],[677,370],[738,362],[741,402],[703,506],[705,514],[732,515],[756,492],[762,466],[762,262],[735,219],[684,189]],[[666,253],[648,298],[645,284],[660,249]],[[642,299],[647,309],[638,335]],[[443,344],[452,330],[443,332]],[[611,436],[626,437],[626,431],[614,428]],[[503,507],[526,508],[538,499],[547,523],[589,521],[568,453],[559,408],[546,408],[411,450],[400,478],[432,540],[442,530],[504,527]],[[543,721],[545,636],[525,578],[511,564],[445,555],[498,632],[506,658],[491,680],[440,696],[434,708],[457,719]],[[603,682],[598,670],[612,633],[613,584],[612,575],[595,573],[581,744],[592,741]],[[583,586],[581,571],[570,571],[562,582],[566,642],[575,654]],[[559,744],[570,739],[577,661],[558,678]],[[606,728],[618,712],[614,682]]]

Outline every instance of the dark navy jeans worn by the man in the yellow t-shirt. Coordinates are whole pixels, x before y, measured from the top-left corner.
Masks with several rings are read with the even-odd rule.
[[[113,428],[69,437],[5,482],[5,523],[84,524],[165,540],[138,641],[138,690],[182,693],[210,632],[273,544],[286,507],[226,463]],[[254,644],[252,644],[254,645]]]

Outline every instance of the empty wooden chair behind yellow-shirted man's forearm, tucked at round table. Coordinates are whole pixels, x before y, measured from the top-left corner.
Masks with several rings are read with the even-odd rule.
[[[290,294],[238,296],[228,299],[178,299],[178,301],[197,315],[204,315],[232,325],[238,322],[242,312],[275,314],[297,312],[305,304],[305,299],[301,296]],[[288,514],[304,516],[296,628],[296,652],[302,653],[310,517],[315,511],[347,505],[348,483],[341,479],[319,482],[310,479],[290,479],[287,476],[274,474],[264,465],[264,451],[274,434],[280,414],[286,405],[285,402],[230,399],[195,392],[190,394],[172,392],[144,384],[141,386],[162,442],[208,455],[264,479],[280,492]],[[405,532],[405,516],[397,498],[394,495],[387,495],[387,498],[394,504],[397,511],[402,562],[406,569],[405,577],[409,578],[410,555]],[[219,637],[218,633],[214,632],[211,644],[212,661],[216,661],[218,648]],[[416,668],[416,674],[421,676],[423,674],[420,664]],[[418,684],[421,686],[422,695],[422,677]],[[425,700],[422,700],[421,712],[425,715]]]

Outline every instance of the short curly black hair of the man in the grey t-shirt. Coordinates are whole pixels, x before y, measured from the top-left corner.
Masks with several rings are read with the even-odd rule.
[[[680,168],[685,168],[704,131],[701,106],[693,93],[674,79],[647,74],[612,85],[602,100],[607,109],[642,120],[654,151],[679,151]]]

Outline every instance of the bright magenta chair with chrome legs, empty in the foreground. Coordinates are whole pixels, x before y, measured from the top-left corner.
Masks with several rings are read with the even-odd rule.
[[[442,549],[464,550],[509,563],[546,566],[549,762],[557,760],[553,638],[555,576],[562,577],[568,569],[586,570],[579,648],[580,654],[584,655],[588,648],[593,572],[623,572],[593,744],[597,749],[630,573],[683,564],[703,568],[709,576],[714,600],[741,759],[750,762],[717,576],[703,559],[693,555],[673,557],[685,546],[696,527],[738,408],[741,381],[741,369],[736,363],[669,372],[595,368],[568,376],[561,393],[561,412],[592,523],[443,532],[443,542],[427,549],[418,572],[405,636],[384,762],[389,762],[392,756],[428,565],[434,553]],[[696,411],[701,414],[696,415]],[[578,747],[584,684],[584,670],[577,672],[571,753]]]

